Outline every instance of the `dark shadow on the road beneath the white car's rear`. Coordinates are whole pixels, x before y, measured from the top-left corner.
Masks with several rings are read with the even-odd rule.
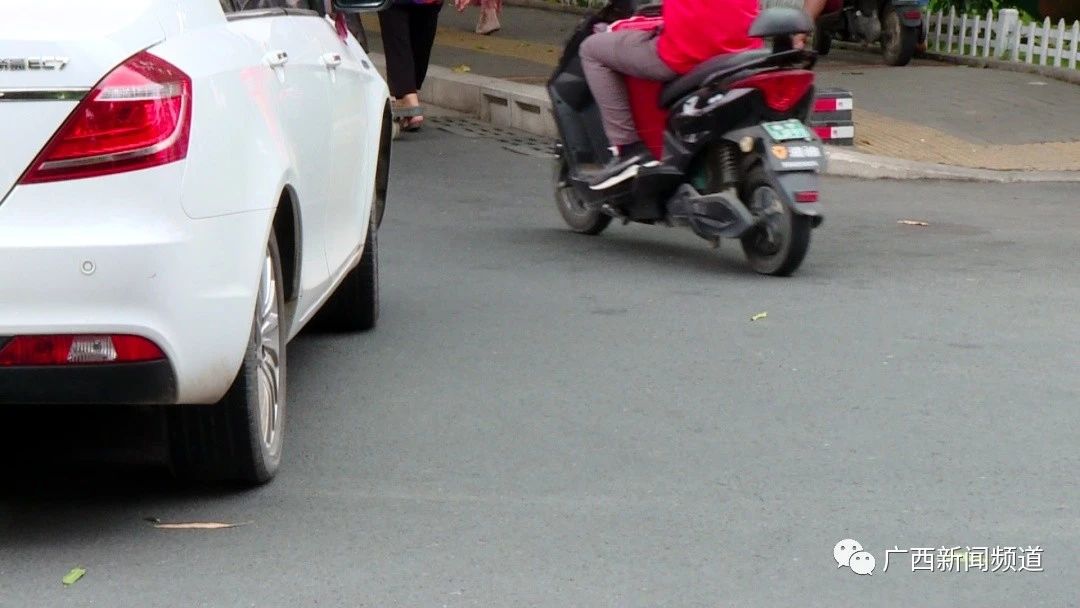
[[[48,542],[57,527],[92,537],[109,527],[150,526],[143,519],[244,492],[175,481],[164,464],[160,414],[152,408],[5,406],[0,429],[5,548]]]

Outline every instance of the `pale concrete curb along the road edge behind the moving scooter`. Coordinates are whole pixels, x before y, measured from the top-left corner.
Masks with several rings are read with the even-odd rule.
[[[376,66],[384,68],[386,58],[382,55],[373,53],[370,57]],[[551,99],[543,86],[431,66],[420,96],[429,104],[475,116],[496,126],[558,137]],[[878,157],[836,147],[828,147],[828,158],[826,175],[860,179],[947,179],[994,184],[1080,181],[1080,172],[968,168]]]

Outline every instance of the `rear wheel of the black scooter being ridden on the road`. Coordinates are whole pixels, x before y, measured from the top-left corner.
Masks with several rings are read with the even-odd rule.
[[[751,171],[743,192],[743,202],[758,221],[742,238],[751,268],[761,274],[791,275],[810,248],[810,218],[784,204],[760,167]]]

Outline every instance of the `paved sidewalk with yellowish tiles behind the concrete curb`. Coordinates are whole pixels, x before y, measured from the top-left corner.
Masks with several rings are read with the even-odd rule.
[[[477,14],[443,10],[432,64],[518,85],[548,79],[579,18],[505,6],[503,29],[487,37],[473,33]],[[364,25],[372,50],[381,52],[378,19],[365,16]],[[971,168],[1080,171],[1080,86],[929,60],[892,68],[879,56],[839,50],[815,69],[819,86],[854,95],[856,152]]]

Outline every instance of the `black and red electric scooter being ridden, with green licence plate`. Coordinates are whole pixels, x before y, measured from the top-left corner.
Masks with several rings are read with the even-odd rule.
[[[792,45],[812,29],[810,17],[771,9],[748,32],[769,48],[714,57],[669,83],[627,78],[635,123],[660,164],[602,191],[589,187],[589,173],[609,158],[609,145],[578,55],[597,24],[656,28],[662,17],[656,4],[612,0],[583,19],[548,83],[561,134],[555,200],[567,225],[584,234],[616,218],[688,227],[713,246],[739,240],[759,273],[793,273],[823,220],[825,152],[804,124],[816,53]]]

